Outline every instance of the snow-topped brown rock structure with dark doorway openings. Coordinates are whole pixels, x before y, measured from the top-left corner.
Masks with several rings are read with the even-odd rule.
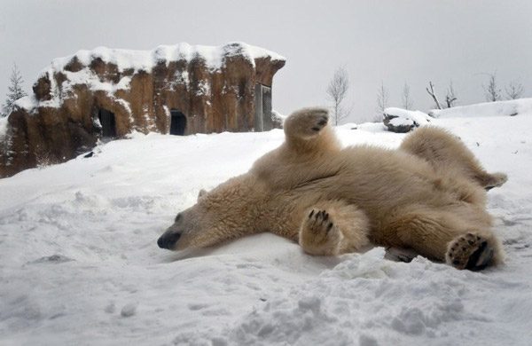
[[[97,48],[54,59],[0,123],[0,177],[67,161],[132,131],[270,130],[278,54],[246,43]]]

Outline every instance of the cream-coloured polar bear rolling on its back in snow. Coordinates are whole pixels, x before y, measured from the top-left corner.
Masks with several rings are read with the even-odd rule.
[[[324,108],[286,118],[285,142],[239,177],[177,214],[160,248],[205,248],[258,232],[334,256],[371,245],[406,248],[458,269],[501,263],[486,190],[503,173],[482,169],[445,130],[415,130],[396,150],[342,148]]]

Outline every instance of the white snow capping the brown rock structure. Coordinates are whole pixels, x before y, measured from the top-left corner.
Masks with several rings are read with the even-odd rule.
[[[51,65],[43,69],[41,76],[47,76],[51,81],[52,98],[46,101],[39,101],[34,95],[20,98],[16,102],[16,106],[31,111],[38,106],[46,107],[60,107],[62,105],[62,98],[67,95],[74,85],[87,85],[90,90],[103,90],[113,98],[117,90],[129,90],[129,83],[131,77],[124,76],[119,83],[102,82],[100,76],[90,69],[90,62],[93,59],[102,59],[106,63],[116,65],[120,72],[127,69],[137,71],[145,71],[151,73],[153,67],[160,61],[165,61],[167,64],[170,61],[184,59],[187,62],[192,59],[203,59],[207,68],[211,70],[218,70],[223,67],[224,59],[231,56],[242,55],[249,63],[254,66],[254,59],[270,58],[272,60],[283,60],[286,58],[276,52],[268,51],[260,47],[241,42],[227,43],[223,46],[206,46],[206,45],[191,45],[189,43],[177,43],[175,45],[160,45],[153,51],[134,51],[123,49],[111,49],[106,47],[98,47],[91,51],[82,50],[75,54],[53,59]],[[71,72],[66,70],[68,63],[72,59],[77,58],[82,64],[83,68],[80,71]],[[53,75],[61,72],[66,75],[66,81],[57,85]],[[189,75],[187,71],[183,71],[180,75],[176,75],[175,81],[170,81],[172,90],[175,89],[175,83],[189,83]],[[200,86],[201,95],[209,95],[210,85],[203,83]]]

